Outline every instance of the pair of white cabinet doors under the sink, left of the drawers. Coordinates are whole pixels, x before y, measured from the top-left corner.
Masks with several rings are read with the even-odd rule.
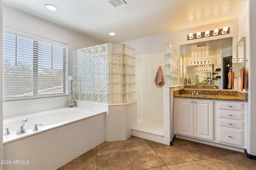
[[[175,98],[175,134],[213,140],[213,101]]]

